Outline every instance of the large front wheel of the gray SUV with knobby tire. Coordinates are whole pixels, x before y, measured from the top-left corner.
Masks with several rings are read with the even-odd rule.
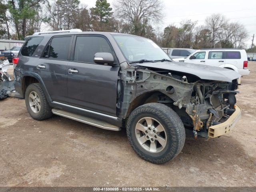
[[[159,103],[136,108],[127,120],[126,133],[138,156],[155,164],[175,158],[182,150],[186,137],[178,114]]]

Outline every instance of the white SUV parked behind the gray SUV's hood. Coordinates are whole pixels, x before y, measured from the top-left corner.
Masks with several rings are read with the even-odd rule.
[[[250,74],[248,60],[244,49],[234,48],[211,48],[200,49],[187,58],[173,59],[176,62],[186,62],[222,67],[234,70],[241,76]]]

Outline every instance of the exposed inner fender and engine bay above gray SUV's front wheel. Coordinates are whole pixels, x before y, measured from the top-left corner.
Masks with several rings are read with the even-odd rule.
[[[235,111],[237,79],[202,80],[193,74],[141,66],[122,72],[121,79],[117,105],[120,115],[128,116],[138,104],[159,102],[172,108],[195,138],[207,138],[209,126],[224,122]]]

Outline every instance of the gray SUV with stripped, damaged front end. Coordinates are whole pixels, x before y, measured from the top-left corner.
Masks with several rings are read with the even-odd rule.
[[[139,36],[38,33],[26,38],[14,74],[32,118],[57,114],[103,129],[124,128],[133,150],[156,164],[179,154],[185,130],[194,138],[215,138],[241,116],[238,73],[172,62]]]

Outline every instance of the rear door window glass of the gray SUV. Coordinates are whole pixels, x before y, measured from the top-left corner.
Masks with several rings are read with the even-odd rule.
[[[46,47],[44,58],[67,60],[71,36],[54,37]]]

